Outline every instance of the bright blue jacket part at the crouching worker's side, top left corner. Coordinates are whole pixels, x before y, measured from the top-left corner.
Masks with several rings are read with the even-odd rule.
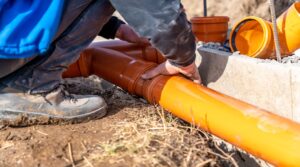
[[[0,59],[45,53],[54,38],[64,0],[0,0]]]

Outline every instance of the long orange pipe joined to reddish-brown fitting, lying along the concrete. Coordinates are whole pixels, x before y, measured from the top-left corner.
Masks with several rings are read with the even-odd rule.
[[[181,76],[143,80],[141,75],[157,64],[141,57],[96,44],[64,77],[98,75],[276,166],[300,165],[300,124]]]

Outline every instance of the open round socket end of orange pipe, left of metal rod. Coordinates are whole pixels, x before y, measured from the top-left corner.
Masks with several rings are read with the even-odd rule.
[[[246,17],[235,25],[229,39],[232,51],[257,58],[275,57],[273,41],[271,23],[255,16]]]

